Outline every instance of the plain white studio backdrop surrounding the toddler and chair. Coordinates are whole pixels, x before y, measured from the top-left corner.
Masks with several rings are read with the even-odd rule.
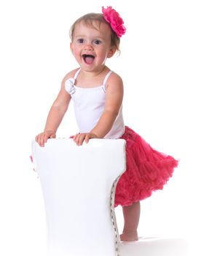
[[[78,67],[69,50],[71,24],[107,5],[127,27],[120,56],[106,63],[124,80],[125,124],[180,159],[168,186],[142,202],[139,236],[187,238],[198,255],[204,215],[202,2],[1,1],[1,255],[45,253],[44,205],[29,160],[31,140],[42,132],[63,76]],[[71,106],[58,137],[76,132]]]

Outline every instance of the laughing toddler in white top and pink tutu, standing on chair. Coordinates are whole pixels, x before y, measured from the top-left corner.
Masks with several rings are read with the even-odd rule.
[[[117,184],[115,206],[122,206],[124,215],[121,241],[137,241],[140,200],[162,189],[178,162],[154,150],[124,124],[122,78],[106,66],[106,59],[119,51],[125,31],[122,18],[112,7],[102,7],[102,13],[88,13],[74,22],[70,48],[79,68],[63,78],[36,142],[44,146],[47,139],[55,138],[71,99],[79,127],[73,136],[77,146],[92,138],[125,139],[127,168]]]

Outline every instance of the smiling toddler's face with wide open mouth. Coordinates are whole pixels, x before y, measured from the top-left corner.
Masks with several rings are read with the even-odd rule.
[[[85,71],[100,71],[107,58],[114,55],[116,48],[111,47],[111,29],[108,25],[101,23],[100,30],[98,22],[93,25],[98,28],[86,26],[84,23],[76,24],[71,52],[76,61]]]

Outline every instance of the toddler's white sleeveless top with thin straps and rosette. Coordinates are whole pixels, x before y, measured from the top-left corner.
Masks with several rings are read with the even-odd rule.
[[[111,75],[110,70],[104,80],[103,84],[93,88],[82,88],[75,86],[75,80],[79,75],[81,69],[76,71],[74,78],[69,78],[65,82],[65,89],[68,94],[71,95],[71,99],[74,102],[74,111],[76,117],[76,123],[79,127],[79,132],[90,132],[93,127],[98,123],[99,118],[104,110],[105,94],[106,94],[106,81]],[[106,134],[104,138],[118,139],[125,132],[124,121],[122,117],[122,106],[119,109],[117,118],[114,121],[111,130]]]

